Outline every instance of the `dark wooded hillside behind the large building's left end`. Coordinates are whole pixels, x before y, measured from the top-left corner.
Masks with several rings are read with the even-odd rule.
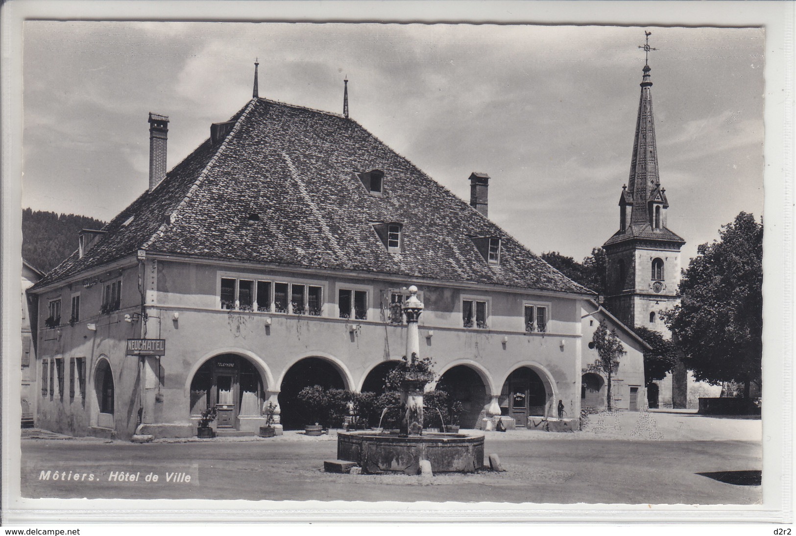
[[[77,249],[80,229],[102,229],[104,221],[75,214],[22,209],[22,258],[49,272]]]

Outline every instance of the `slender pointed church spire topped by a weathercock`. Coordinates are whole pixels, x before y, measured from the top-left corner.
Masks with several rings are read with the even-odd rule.
[[[638,118],[633,143],[633,158],[630,160],[630,178],[628,179],[627,197],[632,199],[633,208],[630,225],[644,225],[650,221],[650,194],[660,185],[657,170],[657,147],[655,146],[655,123],[652,112],[652,80],[650,79],[649,53],[655,50],[650,47],[650,32],[645,32],[646,44],[638,48],[644,49],[646,61],[642,69],[641,97],[638,100]]]

